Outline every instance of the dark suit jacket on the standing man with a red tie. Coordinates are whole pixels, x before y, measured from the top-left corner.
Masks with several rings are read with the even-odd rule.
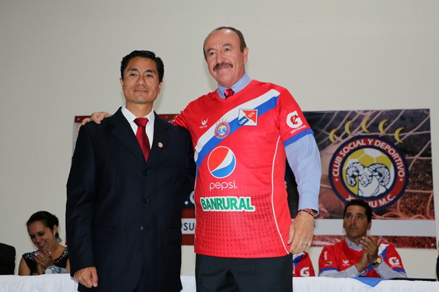
[[[144,272],[150,291],[180,291],[183,191],[194,176],[189,132],[157,115],[147,162],[121,109],[82,126],[67,181],[71,275],[95,266],[93,291],[132,291]]]

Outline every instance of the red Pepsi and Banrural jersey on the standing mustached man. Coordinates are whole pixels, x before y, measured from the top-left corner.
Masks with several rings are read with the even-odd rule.
[[[173,123],[191,132],[195,146],[195,252],[287,254],[292,221],[284,147],[312,133],[293,96],[253,80],[227,99],[217,92],[201,96]]]

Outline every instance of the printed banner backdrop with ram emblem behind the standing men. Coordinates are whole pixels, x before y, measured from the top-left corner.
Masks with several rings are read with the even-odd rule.
[[[344,238],[344,204],[365,200],[373,210],[370,234],[397,248],[436,248],[429,109],[308,111],[322,159],[322,181],[313,245]],[[171,120],[175,114],[159,115]],[[84,116],[75,116],[76,127]],[[288,204],[297,214],[294,174],[287,168]],[[193,245],[193,190],[184,194],[185,245]]]

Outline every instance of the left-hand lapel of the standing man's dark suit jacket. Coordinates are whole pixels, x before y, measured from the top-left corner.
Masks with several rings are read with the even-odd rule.
[[[132,131],[130,123],[123,116],[121,108],[109,118],[108,124],[110,125],[111,133],[117,140],[124,144],[136,157],[141,161],[145,161],[143,157],[142,149],[137,141],[136,135]]]

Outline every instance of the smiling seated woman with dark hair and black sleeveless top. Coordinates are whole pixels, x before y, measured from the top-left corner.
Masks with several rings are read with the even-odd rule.
[[[52,265],[70,271],[69,252],[67,247],[60,245],[58,225],[58,217],[47,211],[38,211],[30,216],[26,223],[27,232],[38,250],[23,254],[19,276],[45,274],[47,267]]]

